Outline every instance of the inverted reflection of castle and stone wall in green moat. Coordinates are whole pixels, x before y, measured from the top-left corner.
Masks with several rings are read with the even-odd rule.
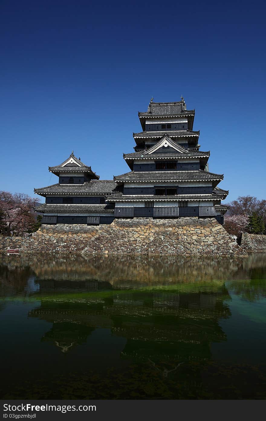
[[[249,299],[266,296],[265,284],[253,282],[258,271],[266,271],[265,255],[2,256],[0,293],[36,300],[29,317],[51,323],[40,340],[63,353],[107,328],[126,339],[121,358],[149,361],[167,376],[181,360],[209,359],[211,344],[226,341],[219,321],[231,316],[228,282]]]

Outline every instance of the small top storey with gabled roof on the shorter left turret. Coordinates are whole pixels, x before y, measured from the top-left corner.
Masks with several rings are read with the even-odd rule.
[[[92,171],[91,167],[84,164],[80,158],[75,157],[73,151],[63,163],[49,167],[49,171],[59,177],[60,184],[83,184],[84,181],[100,178]]]

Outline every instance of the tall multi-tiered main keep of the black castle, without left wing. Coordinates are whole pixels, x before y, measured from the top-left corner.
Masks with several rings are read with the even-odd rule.
[[[116,218],[215,217],[223,223],[228,192],[217,187],[222,174],[208,171],[210,152],[199,150],[195,110],[184,99],[153,102],[139,112],[143,131],[133,133],[135,152],[124,154],[132,170],[115,176],[120,192],[108,197]]]

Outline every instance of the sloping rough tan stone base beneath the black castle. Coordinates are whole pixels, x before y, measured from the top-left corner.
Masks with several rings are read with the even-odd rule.
[[[0,241],[4,250],[5,240]],[[8,244],[8,240],[6,240]],[[110,225],[42,225],[22,240],[25,252],[240,256],[240,248],[215,218],[115,219]]]

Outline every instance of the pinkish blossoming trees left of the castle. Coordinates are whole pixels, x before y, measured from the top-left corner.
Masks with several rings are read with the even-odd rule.
[[[0,191],[0,234],[4,236],[23,236],[37,231],[42,216],[34,213],[38,199],[24,193]]]

